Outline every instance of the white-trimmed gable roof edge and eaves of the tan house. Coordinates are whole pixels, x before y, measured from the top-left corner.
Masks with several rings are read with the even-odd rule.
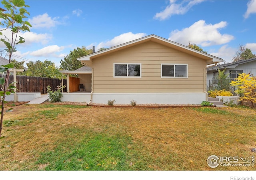
[[[108,48],[108,49],[105,49],[105,50],[102,50],[102,51],[98,51],[98,52],[95,52],[93,54],[89,54],[87,56],[77,58],[77,60],[80,60],[81,63],[85,66],[91,66],[93,58],[104,56],[106,54],[116,52],[118,50],[122,50],[122,49],[125,49],[125,48],[128,48],[128,47],[131,47],[131,46],[135,46],[137,44],[142,44],[142,43],[148,42],[148,41],[157,42],[159,44],[163,44],[163,45],[168,46],[170,48],[185,52],[187,54],[191,54],[191,55],[196,56],[198,58],[202,58],[202,59],[206,60],[207,64],[213,64],[213,63],[216,63],[216,62],[223,62],[223,60],[221,58],[218,58],[216,56],[212,56],[210,54],[195,50],[193,48],[190,48],[188,46],[184,46],[182,44],[178,44],[177,42],[173,42],[173,41],[170,41],[168,39],[161,38],[161,37],[156,36],[154,34],[149,35],[149,36],[145,36],[143,38],[139,38],[139,39],[136,39],[136,40],[132,40],[130,42],[126,42],[124,44],[120,44],[118,46],[114,46],[114,47],[111,47],[111,48]]]

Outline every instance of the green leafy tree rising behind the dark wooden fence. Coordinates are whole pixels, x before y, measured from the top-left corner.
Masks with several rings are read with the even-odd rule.
[[[37,60],[36,62],[26,63],[28,70],[25,72],[26,76],[37,76],[45,78],[58,78],[61,79],[62,74],[59,68],[55,66],[54,62],[45,60],[44,62]]]

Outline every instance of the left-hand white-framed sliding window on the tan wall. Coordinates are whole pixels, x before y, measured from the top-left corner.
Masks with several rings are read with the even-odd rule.
[[[114,64],[114,77],[141,77],[141,64]]]

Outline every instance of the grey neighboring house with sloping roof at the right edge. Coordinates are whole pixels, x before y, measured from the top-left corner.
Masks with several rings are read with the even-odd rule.
[[[218,79],[218,69],[225,70],[224,73],[227,74],[230,79],[237,78],[241,73],[248,74],[249,72],[256,76],[256,58],[220,64],[207,68],[207,81]]]

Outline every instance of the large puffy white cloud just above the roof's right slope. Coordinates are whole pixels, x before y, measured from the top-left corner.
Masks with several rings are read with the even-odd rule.
[[[234,36],[220,34],[218,31],[226,25],[227,23],[224,21],[212,25],[206,24],[204,20],[199,20],[188,28],[172,31],[169,40],[184,45],[187,45],[189,41],[201,46],[225,44],[234,39]]]

